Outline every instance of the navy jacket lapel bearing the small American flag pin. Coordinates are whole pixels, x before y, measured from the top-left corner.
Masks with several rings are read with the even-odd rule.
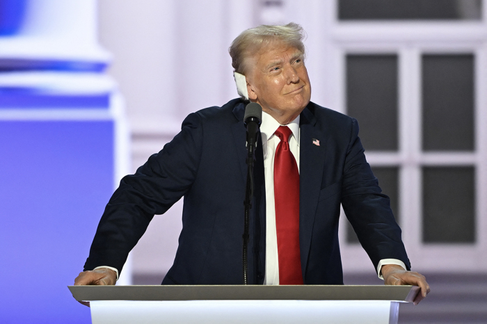
[[[316,118],[308,108],[301,113],[299,135],[299,245],[301,268],[305,273],[310,252],[314,217],[323,179],[326,138],[315,125]],[[315,140],[318,140],[317,143]]]

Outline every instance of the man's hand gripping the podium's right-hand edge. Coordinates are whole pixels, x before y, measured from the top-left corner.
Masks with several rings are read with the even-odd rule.
[[[395,264],[385,264],[381,268],[384,284],[401,285],[411,284],[419,286],[421,291],[416,295],[414,305],[417,305],[429,293],[429,284],[426,282],[424,275],[413,271],[406,271],[403,267]]]

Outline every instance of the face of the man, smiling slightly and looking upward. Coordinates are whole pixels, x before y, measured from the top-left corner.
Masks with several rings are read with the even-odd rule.
[[[280,124],[292,122],[310,102],[311,85],[303,54],[271,42],[248,58],[248,97]]]

